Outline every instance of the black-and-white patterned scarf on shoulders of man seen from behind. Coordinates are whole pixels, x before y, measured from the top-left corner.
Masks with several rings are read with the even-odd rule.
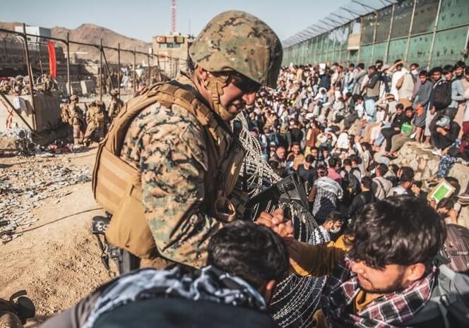
[[[83,327],[93,327],[101,315],[127,303],[162,296],[267,310],[266,301],[254,287],[215,267],[203,267],[194,272],[182,267],[142,269],[119,277],[105,288]]]

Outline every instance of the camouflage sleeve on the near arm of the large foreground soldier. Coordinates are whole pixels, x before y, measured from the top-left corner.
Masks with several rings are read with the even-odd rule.
[[[204,248],[221,223],[201,212],[208,159],[198,121],[176,105],[154,104],[131,123],[121,154],[138,161],[146,219],[160,254],[203,267]]]

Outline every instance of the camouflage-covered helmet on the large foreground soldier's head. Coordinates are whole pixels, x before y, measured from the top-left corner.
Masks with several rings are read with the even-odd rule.
[[[203,28],[189,54],[207,71],[236,71],[275,87],[283,50],[278,36],[262,20],[244,11],[225,11]]]

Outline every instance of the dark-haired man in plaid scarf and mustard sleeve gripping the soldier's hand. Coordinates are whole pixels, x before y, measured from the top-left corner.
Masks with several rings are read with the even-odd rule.
[[[328,275],[316,327],[408,327],[436,286],[444,222],[425,200],[391,197],[367,206],[351,236],[328,245],[285,238],[297,274]],[[444,327],[436,321],[410,326]]]

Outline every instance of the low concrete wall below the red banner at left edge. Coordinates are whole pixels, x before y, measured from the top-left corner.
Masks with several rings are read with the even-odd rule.
[[[14,104],[17,96],[6,96],[8,100]],[[32,105],[31,105],[31,96],[20,96],[23,99],[25,107],[20,111],[21,116],[28,122],[28,124],[34,128],[33,123],[33,114],[32,114]],[[35,130],[38,132],[43,130],[48,130],[57,124],[60,121],[60,102],[57,91],[52,91],[51,95],[44,95],[38,93],[34,96],[35,109],[36,109],[36,123],[37,126]],[[0,102],[0,130],[7,131],[6,121],[8,119],[9,113],[6,107],[2,102]],[[13,126],[19,126],[22,128],[28,129],[28,127],[21,121],[21,119],[13,112]]]

